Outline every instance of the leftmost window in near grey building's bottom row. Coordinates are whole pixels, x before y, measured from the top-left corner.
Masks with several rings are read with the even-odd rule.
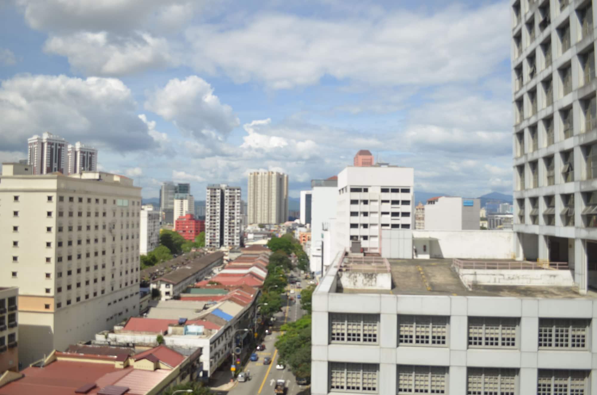
[[[330,390],[375,393],[378,371],[374,363],[330,362]]]

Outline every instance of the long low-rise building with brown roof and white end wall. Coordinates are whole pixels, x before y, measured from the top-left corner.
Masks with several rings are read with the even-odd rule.
[[[201,280],[206,273],[211,273],[214,267],[223,263],[223,252],[218,251],[204,255],[152,280],[150,288],[159,290],[161,300],[171,299],[184,291],[187,286]]]

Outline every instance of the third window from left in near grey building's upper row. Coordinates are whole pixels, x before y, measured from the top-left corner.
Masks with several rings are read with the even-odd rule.
[[[469,347],[516,347],[514,318],[469,317]]]

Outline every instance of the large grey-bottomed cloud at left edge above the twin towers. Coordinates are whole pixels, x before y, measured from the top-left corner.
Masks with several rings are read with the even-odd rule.
[[[19,75],[0,85],[0,147],[25,150],[26,138],[48,131],[117,152],[153,149],[122,81]]]

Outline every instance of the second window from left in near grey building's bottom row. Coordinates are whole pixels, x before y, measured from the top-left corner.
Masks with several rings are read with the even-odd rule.
[[[398,365],[398,394],[445,394],[448,368]]]

